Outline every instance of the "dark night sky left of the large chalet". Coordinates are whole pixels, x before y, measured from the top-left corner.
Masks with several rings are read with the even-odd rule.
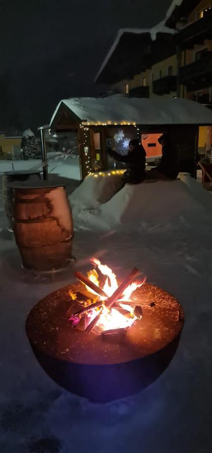
[[[0,0],[0,130],[35,130],[61,99],[98,94],[94,78],[118,29],[152,27],[170,4]]]

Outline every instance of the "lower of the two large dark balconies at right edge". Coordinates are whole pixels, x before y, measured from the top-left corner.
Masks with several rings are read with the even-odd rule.
[[[200,60],[180,68],[180,83],[185,85],[187,91],[200,90],[211,86],[212,78],[212,52],[202,55]]]

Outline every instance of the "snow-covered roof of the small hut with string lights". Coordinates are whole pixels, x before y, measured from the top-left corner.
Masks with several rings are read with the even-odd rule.
[[[56,119],[64,105],[87,124],[212,124],[212,111],[195,101],[164,97],[128,98],[115,95],[108,98],[73,98],[59,102],[50,121]]]

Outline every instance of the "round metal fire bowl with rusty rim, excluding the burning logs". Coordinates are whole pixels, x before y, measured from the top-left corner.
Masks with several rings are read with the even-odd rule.
[[[143,318],[122,334],[95,335],[74,329],[66,313],[72,301],[65,286],[44,297],[26,321],[34,354],[46,373],[64,389],[94,402],[132,395],[152,384],[172,359],[184,323],[178,301],[157,286],[133,292]],[[148,304],[155,302],[155,306]]]

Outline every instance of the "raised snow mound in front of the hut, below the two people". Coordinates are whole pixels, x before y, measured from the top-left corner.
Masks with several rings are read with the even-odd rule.
[[[95,193],[94,203],[88,202],[88,194],[82,185],[78,208],[73,209],[74,224],[82,230],[139,233],[161,227],[168,230],[186,228],[208,217],[211,220],[212,197],[190,176],[182,178],[186,183],[176,180],[126,184],[102,204],[96,202],[101,198],[98,192],[102,188],[101,179],[90,189],[90,194],[92,190]],[[93,183],[93,178],[90,182]],[[73,194],[75,206],[77,191]]]

